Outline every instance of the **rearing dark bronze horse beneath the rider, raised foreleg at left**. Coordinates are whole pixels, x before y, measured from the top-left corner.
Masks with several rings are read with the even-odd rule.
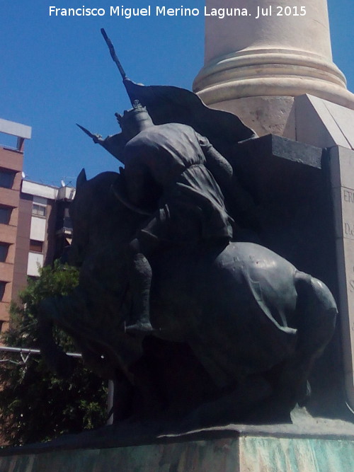
[[[113,195],[119,178],[79,175],[70,249],[79,286],[45,301],[40,315],[52,367],[63,372],[69,362],[52,338],[55,323],[91,369],[119,384],[116,418],[189,414],[194,426],[289,420],[333,334],[329,289],[257,244],[166,246],[151,258],[156,331],[143,340],[126,334],[125,248],[146,217]]]

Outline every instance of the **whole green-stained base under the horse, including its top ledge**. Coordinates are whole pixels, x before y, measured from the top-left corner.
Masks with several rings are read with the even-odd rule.
[[[113,426],[3,449],[0,472],[354,471],[354,425],[311,418],[304,410],[292,425],[229,425],[154,437],[146,429],[134,434],[136,425],[126,430]]]

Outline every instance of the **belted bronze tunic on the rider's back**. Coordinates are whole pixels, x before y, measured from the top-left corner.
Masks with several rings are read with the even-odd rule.
[[[211,145],[187,125],[149,127],[124,150],[127,196],[155,210],[141,230],[160,241],[198,242],[232,238],[232,218],[207,169]]]

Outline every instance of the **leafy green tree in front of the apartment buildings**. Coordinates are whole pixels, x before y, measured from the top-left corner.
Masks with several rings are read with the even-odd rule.
[[[69,294],[78,277],[68,265],[42,268],[40,277],[29,280],[19,294],[20,303],[11,303],[11,327],[2,335],[4,345],[38,348],[38,303]],[[57,330],[56,337],[65,351],[76,350],[65,333]],[[105,424],[106,383],[85,369],[81,359],[69,379],[52,374],[40,355],[21,359],[17,353],[0,352],[0,360],[0,435],[8,444],[45,441]]]

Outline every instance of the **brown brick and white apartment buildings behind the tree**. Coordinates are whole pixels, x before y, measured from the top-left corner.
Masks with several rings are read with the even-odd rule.
[[[31,129],[0,120],[1,136],[16,137],[15,146],[0,144],[0,329],[8,327],[8,306],[28,277],[52,263],[71,243],[69,206],[75,189],[25,180],[23,143]]]

